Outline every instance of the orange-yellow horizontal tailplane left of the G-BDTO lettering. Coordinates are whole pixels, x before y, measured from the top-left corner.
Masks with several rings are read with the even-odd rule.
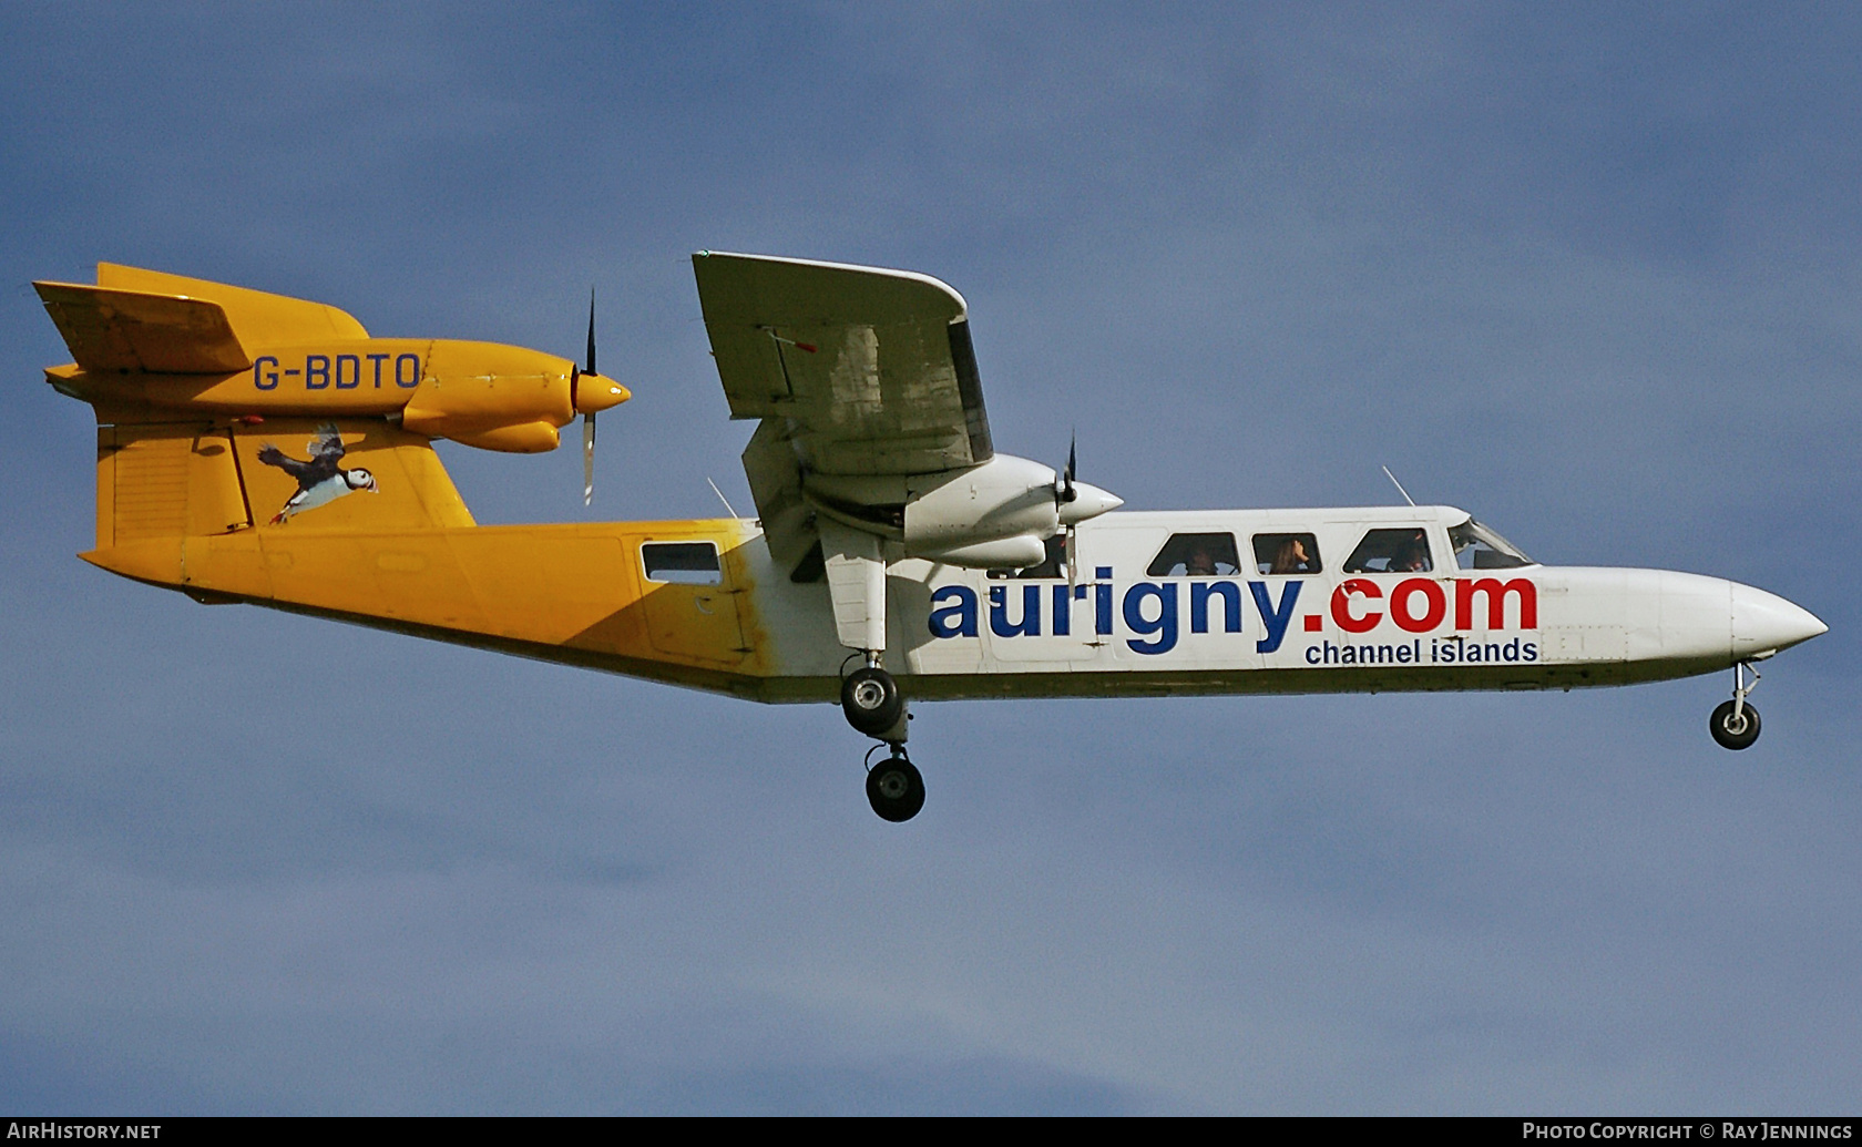
[[[220,304],[82,283],[34,287],[86,371],[231,374],[251,365]]]

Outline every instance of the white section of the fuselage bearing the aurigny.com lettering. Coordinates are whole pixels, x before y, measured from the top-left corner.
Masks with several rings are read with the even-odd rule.
[[[896,560],[886,667],[918,698],[1568,689],[1711,672],[1825,631],[1717,577],[1458,568],[1449,531],[1465,520],[1450,506],[1115,512],[1078,527],[1071,583]],[[1274,572],[1292,538],[1298,572]],[[1348,570],[1378,540],[1411,538],[1426,553],[1404,551],[1410,568]],[[747,549],[767,562],[758,542]],[[821,641],[827,590],[758,574],[769,700],[814,696],[849,654]]]

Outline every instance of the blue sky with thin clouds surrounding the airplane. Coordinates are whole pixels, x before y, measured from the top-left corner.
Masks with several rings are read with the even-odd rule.
[[[1838,1112],[1845,6],[0,7],[0,1108]],[[1424,501],[1830,633],[1726,683],[760,708],[114,579],[28,283],[581,346],[596,512],[745,505],[689,253],[970,302],[1134,508]],[[480,521],[579,458],[443,447]],[[311,681],[311,685],[305,685]]]

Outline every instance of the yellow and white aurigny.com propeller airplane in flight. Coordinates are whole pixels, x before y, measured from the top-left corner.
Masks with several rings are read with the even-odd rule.
[[[1445,505],[1130,512],[994,449],[963,296],[912,272],[698,251],[756,518],[477,525],[434,439],[557,449],[629,393],[585,363],[374,339],[335,307],[99,264],[35,283],[97,413],[95,566],[760,702],[838,700],[866,793],[925,799],[909,700],[1573,689],[1734,670],[1827,631],[1774,594],[1545,566]],[[1398,484],[1400,490],[1400,484]],[[1408,501],[1408,493],[1404,495]],[[873,754],[884,750],[875,763]]]

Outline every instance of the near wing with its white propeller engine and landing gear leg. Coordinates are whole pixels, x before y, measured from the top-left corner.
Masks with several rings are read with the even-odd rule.
[[[698,302],[771,557],[827,583],[840,644],[866,655],[842,708],[903,760],[905,709],[883,667],[886,564],[1041,564],[1046,542],[1119,499],[998,454],[963,296],[931,276],[698,251]],[[877,771],[873,776],[905,776]],[[890,782],[888,782],[890,784]],[[888,797],[916,812],[911,784]],[[922,799],[922,791],[920,797]],[[875,804],[877,808],[879,804]]]

